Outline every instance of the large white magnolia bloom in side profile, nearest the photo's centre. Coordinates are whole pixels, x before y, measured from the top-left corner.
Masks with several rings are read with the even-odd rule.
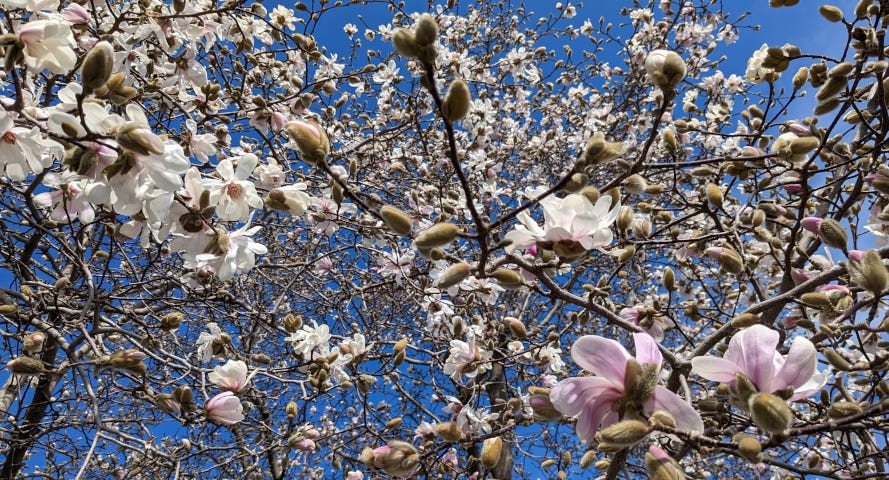
[[[595,205],[579,194],[565,198],[550,196],[541,200],[540,205],[544,226],[541,227],[526,212],[519,213],[520,223],[506,234],[506,239],[512,241],[507,247],[508,252],[537,245],[571,261],[588,250],[607,246],[614,238],[610,227],[617,219],[620,204],[610,208],[610,195],[602,195]]]

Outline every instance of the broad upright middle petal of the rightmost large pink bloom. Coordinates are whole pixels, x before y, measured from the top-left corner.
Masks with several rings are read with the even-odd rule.
[[[738,364],[761,392],[771,392],[778,337],[778,332],[764,325],[745,328],[732,337],[723,358]]]

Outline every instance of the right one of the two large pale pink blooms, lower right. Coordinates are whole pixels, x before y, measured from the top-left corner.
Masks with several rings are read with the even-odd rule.
[[[737,374],[749,378],[760,392],[792,391],[790,400],[800,400],[821,389],[825,378],[816,371],[818,352],[812,342],[796,337],[786,356],[778,353],[778,332],[763,325],[753,325],[732,337],[722,358],[697,357],[691,360],[692,372],[712,380],[734,385]]]

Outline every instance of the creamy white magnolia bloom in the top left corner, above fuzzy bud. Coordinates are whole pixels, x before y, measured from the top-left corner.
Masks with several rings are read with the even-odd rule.
[[[62,75],[77,64],[77,55],[71,48],[74,35],[67,21],[59,18],[35,20],[22,26],[18,34],[25,63],[31,71],[39,73],[49,70]]]

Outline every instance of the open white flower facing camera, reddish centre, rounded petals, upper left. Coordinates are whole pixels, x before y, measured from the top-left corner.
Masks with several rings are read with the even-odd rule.
[[[262,208],[256,186],[248,180],[258,162],[256,155],[247,153],[238,160],[235,169],[232,161],[226,158],[216,166],[222,180],[210,179],[204,183],[210,190],[210,205],[216,206],[216,215],[220,220],[244,222],[250,218],[251,208]]]

